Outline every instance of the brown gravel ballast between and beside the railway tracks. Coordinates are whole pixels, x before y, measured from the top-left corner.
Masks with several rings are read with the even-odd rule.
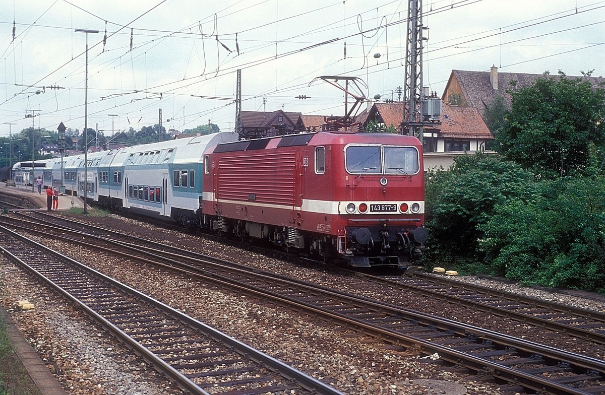
[[[108,228],[131,234],[151,233],[166,244],[197,249],[229,260],[238,260],[284,275],[295,276],[339,287],[348,292],[361,293],[379,299],[397,300],[399,297],[376,295],[366,289],[360,279],[331,275],[293,264],[267,258],[236,247],[226,246],[205,238],[179,235],[172,230],[123,220],[110,216],[96,220]],[[175,240],[180,240],[179,243]],[[60,241],[45,240],[51,248],[113,276],[141,292],[181,310],[200,321],[212,325],[227,335],[234,336],[252,347],[293,365],[312,376],[333,385],[347,394],[432,394],[443,393],[430,381],[462,385],[468,394],[498,394],[497,385],[469,380],[464,375],[448,373],[439,365],[428,364],[405,351],[385,347],[381,341],[368,338],[305,315],[276,307],[267,302],[249,299],[214,289],[208,284],[162,272],[152,267],[128,263],[112,256],[96,253],[83,247],[66,245]],[[70,394],[180,394],[165,378],[131,351],[108,338],[97,325],[50,291],[40,287],[21,269],[0,260],[3,283],[2,305],[7,308],[30,344],[45,357],[48,367]],[[546,290],[526,289],[497,281],[474,277],[457,278],[510,292],[543,298],[557,298],[558,302],[603,311],[602,302],[561,295]],[[364,293],[367,292],[367,295]],[[399,295],[401,296],[401,295]],[[425,299],[404,295],[405,307],[422,310]],[[16,308],[16,301],[29,299],[36,306],[27,312]],[[401,301],[399,302],[401,304]],[[444,306],[440,306],[444,308]],[[445,312],[448,318],[460,319]],[[517,322],[517,324],[519,324]],[[495,325],[495,323],[494,323]],[[528,328],[528,331],[531,328]],[[596,350],[595,353],[600,352]],[[446,384],[445,383],[445,384]],[[453,388],[453,387],[452,387]],[[458,387],[459,388],[459,387]]]

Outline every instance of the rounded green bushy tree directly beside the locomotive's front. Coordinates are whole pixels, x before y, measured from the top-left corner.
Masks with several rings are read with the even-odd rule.
[[[482,152],[456,157],[449,171],[430,171],[426,180],[427,257],[455,262],[457,270],[469,272],[484,263],[477,247],[494,207],[529,200],[535,189],[534,174]]]

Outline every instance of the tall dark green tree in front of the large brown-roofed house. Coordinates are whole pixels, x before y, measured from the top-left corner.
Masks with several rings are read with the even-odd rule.
[[[583,174],[589,145],[605,146],[605,90],[559,74],[511,91],[511,111],[496,133],[499,152],[543,178]]]

